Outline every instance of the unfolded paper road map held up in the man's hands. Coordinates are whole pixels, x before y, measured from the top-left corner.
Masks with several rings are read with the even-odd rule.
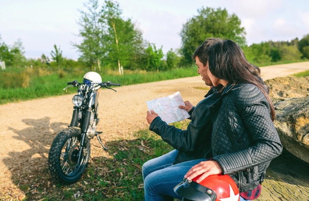
[[[148,110],[154,110],[166,123],[182,121],[190,117],[186,110],[178,108],[179,105],[185,105],[180,92],[163,97],[146,101]]]

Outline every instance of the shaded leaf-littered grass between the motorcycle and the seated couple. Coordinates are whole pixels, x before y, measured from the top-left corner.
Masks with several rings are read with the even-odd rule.
[[[183,128],[187,125],[186,120],[178,123]],[[141,201],[144,196],[143,163],[169,152],[172,147],[149,130],[132,135],[133,140],[106,143],[110,157],[99,154],[91,158],[82,178],[75,184],[57,183],[51,178],[47,165],[39,170],[19,172],[12,175],[12,180],[26,192],[23,201]],[[92,144],[91,151],[95,148]]]

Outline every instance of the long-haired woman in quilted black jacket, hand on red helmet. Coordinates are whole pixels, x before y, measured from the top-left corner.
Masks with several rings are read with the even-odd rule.
[[[222,93],[210,108],[213,158],[194,165],[185,178],[201,175],[200,182],[212,174],[229,174],[242,200],[256,199],[270,161],[282,152],[268,89],[259,68],[232,40],[209,48],[208,67],[213,86]]]

